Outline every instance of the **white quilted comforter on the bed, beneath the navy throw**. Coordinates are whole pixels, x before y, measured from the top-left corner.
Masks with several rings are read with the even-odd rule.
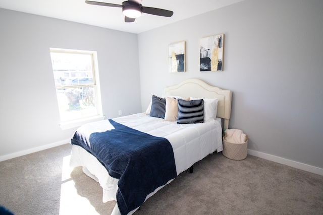
[[[223,150],[221,118],[198,124],[177,124],[139,113],[113,120],[139,131],[167,138],[174,150],[177,175],[208,154]],[[92,125],[97,132],[105,131],[106,128],[111,127],[109,120],[94,122]],[[103,188],[103,202],[116,199],[118,179],[110,177],[94,156],[83,148],[73,145],[70,165],[72,167],[83,166],[83,172],[100,183]],[[160,188],[157,188],[155,192]],[[147,198],[155,192],[148,195]],[[113,214],[119,213],[116,205]]]

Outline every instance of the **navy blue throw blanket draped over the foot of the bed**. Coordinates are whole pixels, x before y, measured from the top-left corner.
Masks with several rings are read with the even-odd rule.
[[[109,121],[114,129],[91,133],[89,138],[76,131],[71,143],[94,155],[110,176],[119,179],[117,203],[121,214],[127,214],[177,176],[174,152],[166,138]]]

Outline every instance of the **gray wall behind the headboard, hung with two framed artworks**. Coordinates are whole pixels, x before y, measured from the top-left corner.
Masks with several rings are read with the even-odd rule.
[[[323,1],[246,0],[140,33],[142,111],[187,78],[233,92],[229,128],[248,148],[323,168]],[[225,34],[224,71],[199,71],[199,39]],[[168,73],[168,44],[186,41],[184,74]]]

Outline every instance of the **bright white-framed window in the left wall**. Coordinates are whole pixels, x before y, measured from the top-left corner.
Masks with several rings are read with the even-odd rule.
[[[96,52],[50,49],[61,123],[101,116]]]

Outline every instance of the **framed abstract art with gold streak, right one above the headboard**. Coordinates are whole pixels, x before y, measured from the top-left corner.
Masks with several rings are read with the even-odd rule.
[[[200,39],[200,71],[223,71],[224,34]]]

